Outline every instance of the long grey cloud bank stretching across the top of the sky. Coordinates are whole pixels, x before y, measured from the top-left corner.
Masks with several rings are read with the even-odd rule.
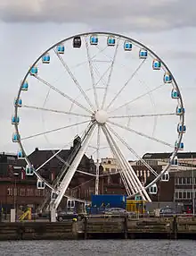
[[[75,22],[100,29],[166,30],[195,26],[195,0],[2,0],[6,22]]]

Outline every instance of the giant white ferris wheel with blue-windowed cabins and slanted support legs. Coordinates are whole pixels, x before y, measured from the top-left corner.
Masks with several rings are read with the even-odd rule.
[[[184,149],[184,102],[174,76],[150,48],[115,33],[83,33],[48,48],[21,81],[14,109],[18,158],[27,162],[26,175],[37,176],[38,189],[51,189],[55,209],[85,154],[96,164],[96,194],[101,158],[112,156],[127,196],[139,193],[151,201],[149,193],[157,192],[159,180],[169,180],[169,167],[177,165],[176,153]],[[48,183],[40,169],[53,158],[63,161],[61,150],[76,134],[80,142],[69,165],[59,180]],[[35,147],[53,151],[38,167],[28,157]],[[171,157],[157,173],[142,157],[163,150]],[[151,172],[151,183],[141,183],[128,159]]]

